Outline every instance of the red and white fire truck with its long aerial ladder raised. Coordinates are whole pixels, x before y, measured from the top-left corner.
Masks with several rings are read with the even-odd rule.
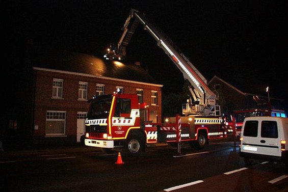
[[[187,143],[191,148],[204,148],[211,139],[226,137],[216,94],[189,59],[143,13],[131,9],[117,44],[110,44],[106,59],[123,60],[137,25],[156,40],[173,63],[183,73],[191,93],[182,105],[182,116],[166,118],[164,123],[149,119],[149,105],[139,103],[137,94],[113,93],[90,100],[86,118],[85,145],[98,147],[104,153],[122,150],[124,154],[139,155],[148,144],[168,143],[171,146]]]

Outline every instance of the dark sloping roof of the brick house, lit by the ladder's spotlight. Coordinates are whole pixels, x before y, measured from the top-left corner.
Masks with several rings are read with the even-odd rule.
[[[33,46],[33,67],[158,84],[140,65],[105,60],[83,53]],[[125,62],[125,61],[124,61]]]

